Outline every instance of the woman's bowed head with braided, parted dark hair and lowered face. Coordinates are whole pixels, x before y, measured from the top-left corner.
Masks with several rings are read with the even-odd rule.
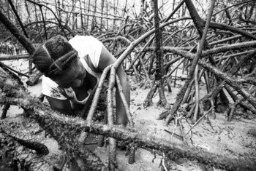
[[[61,87],[80,87],[86,76],[78,52],[62,36],[55,36],[41,44],[33,55],[36,68]]]

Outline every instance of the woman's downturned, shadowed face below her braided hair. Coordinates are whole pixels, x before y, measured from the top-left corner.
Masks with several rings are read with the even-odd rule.
[[[60,87],[81,87],[83,85],[83,80],[86,77],[86,69],[80,60],[75,60],[69,71],[64,72],[62,76],[54,79]]]

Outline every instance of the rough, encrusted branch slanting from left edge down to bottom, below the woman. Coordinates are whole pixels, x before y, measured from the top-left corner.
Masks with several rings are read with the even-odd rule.
[[[99,157],[78,142],[77,135],[79,135],[79,132],[67,129],[68,127],[66,127],[65,124],[56,126],[49,122],[52,113],[54,113],[50,108],[44,106],[36,97],[29,95],[29,92],[24,90],[17,81],[9,79],[10,76],[1,69],[0,76],[0,88],[3,90],[1,94],[5,94],[5,96],[1,95],[1,102],[5,101],[10,105],[21,106],[32,119],[34,119],[34,116],[39,116],[36,117],[35,120],[59,143],[61,148],[67,152],[69,161],[72,159],[75,159],[75,161],[82,159],[84,161],[84,169],[86,170],[105,170],[105,165],[102,164]],[[12,98],[8,98],[7,95],[11,95]],[[45,115],[48,117],[45,118]]]

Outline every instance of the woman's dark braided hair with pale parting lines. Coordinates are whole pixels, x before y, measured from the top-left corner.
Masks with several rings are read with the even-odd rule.
[[[63,36],[54,36],[40,44],[32,58],[39,71],[45,76],[55,79],[63,71],[68,71],[72,61],[78,59],[78,52]]]

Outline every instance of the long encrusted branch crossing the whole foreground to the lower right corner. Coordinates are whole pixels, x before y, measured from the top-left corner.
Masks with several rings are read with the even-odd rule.
[[[203,164],[209,164],[225,170],[254,170],[256,168],[256,162],[250,162],[249,159],[241,160],[211,154],[197,148],[190,148],[189,146],[184,146],[182,144],[159,140],[153,136],[144,135],[142,132],[124,130],[121,127],[116,127],[115,125],[110,127],[108,125],[98,124],[95,122],[89,123],[81,120],[80,118],[60,116],[43,106],[37,98],[32,97],[27,92],[20,89],[19,85],[15,81],[8,79],[7,74],[1,70],[0,75],[1,90],[15,95],[16,98],[20,98],[20,100],[17,99],[15,101],[13,98],[5,98],[1,96],[0,103],[8,101],[8,103],[33,109],[34,112],[30,115],[31,119],[37,121],[44,130],[50,132],[50,134],[53,135],[53,138],[56,138],[62,146],[65,144],[66,146],[69,146],[69,148],[66,147],[64,149],[67,153],[72,154],[72,156],[79,156],[81,153],[78,150],[74,150],[73,148],[75,147],[70,147],[70,143],[67,142],[74,142],[74,140],[69,141],[69,137],[67,137],[64,132],[68,132],[72,135],[72,133],[75,132],[86,131],[94,132],[98,135],[107,135],[111,138],[126,140],[128,143],[134,142],[141,148],[151,148],[174,156],[186,157],[187,159],[197,159],[198,162]],[[31,108],[31,106],[33,107]],[[75,146],[75,144],[71,145]],[[85,149],[83,148],[83,150]]]

